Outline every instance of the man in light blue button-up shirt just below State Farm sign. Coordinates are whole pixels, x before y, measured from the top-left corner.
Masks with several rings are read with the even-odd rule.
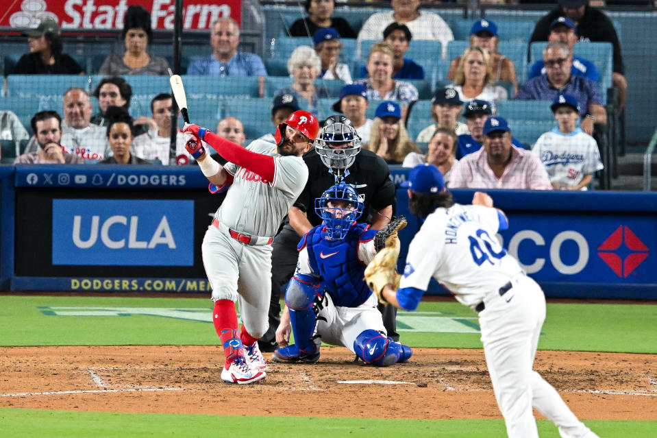
[[[267,75],[260,56],[239,51],[240,27],[231,18],[223,18],[212,23],[210,32],[212,55],[191,62],[188,75],[211,76],[258,76],[260,77],[260,97],[264,94],[264,77]]]

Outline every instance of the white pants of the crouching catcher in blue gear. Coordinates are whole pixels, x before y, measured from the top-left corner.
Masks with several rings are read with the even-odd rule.
[[[374,295],[358,307],[336,307],[329,292],[324,293],[320,302],[322,306],[317,315],[317,334],[322,341],[330,345],[342,345],[354,352],[354,341],[359,334],[371,329],[384,333],[381,312],[376,308]]]

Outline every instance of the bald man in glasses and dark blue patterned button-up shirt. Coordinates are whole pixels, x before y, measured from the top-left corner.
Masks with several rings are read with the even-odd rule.
[[[543,50],[543,62],[547,74],[522,84],[516,99],[553,100],[560,94],[571,95],[582,108],[582,130],[593,135],[594,123],[607,123],[607,112],[602,106],[599,85],[571,73],[573,52],[563,42],[549,42]],[[600,129],[603,129],[602,126]]]

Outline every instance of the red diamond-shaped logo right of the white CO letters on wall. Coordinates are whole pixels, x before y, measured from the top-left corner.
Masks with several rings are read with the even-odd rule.
[[[625,244],[626,251],[630,254],[621,258],[622,255],[616,254],[622,244]],[[648,247],[639,239],[639,237],[630,230],[629,227],[621,225],[612,232],[604,242],[597,247],[597,255],[602,258],[620,278],[626,278],[636,269],[649,254]]]

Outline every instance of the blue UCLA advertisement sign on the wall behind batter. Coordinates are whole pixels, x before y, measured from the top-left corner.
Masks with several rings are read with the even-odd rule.
[[[193,201],[53,199],[53,265],[191,266]]]

